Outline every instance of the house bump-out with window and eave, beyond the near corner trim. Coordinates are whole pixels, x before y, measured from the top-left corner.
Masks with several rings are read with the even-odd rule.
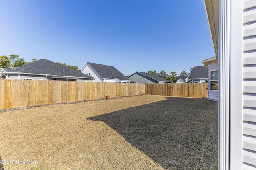
[[[218,100],[218,59],[212,57],[202,61],[202,63],[208,68],[208,99]]]

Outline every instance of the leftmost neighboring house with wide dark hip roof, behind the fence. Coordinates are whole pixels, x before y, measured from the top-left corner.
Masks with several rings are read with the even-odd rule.
[[[50,60],[40,59],[14,69],[0,68],[0,78],[93,82],[95,78]]]

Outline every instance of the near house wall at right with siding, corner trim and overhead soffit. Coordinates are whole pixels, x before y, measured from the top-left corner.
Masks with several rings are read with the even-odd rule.
[[[218,169],[255,170],[256,1],[204,5],[219,66]]]

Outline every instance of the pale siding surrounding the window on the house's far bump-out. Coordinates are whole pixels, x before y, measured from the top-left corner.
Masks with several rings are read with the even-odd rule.
[[[211,78],[211,71],[216,71],[218,70],[218,60],[216,61],[212,61],[209,63],[208,65],[208,98],[209,99],[214,99],[214,100],[218,100],[218,90],[211,90],[211,82],[210,82],[210,78]]]

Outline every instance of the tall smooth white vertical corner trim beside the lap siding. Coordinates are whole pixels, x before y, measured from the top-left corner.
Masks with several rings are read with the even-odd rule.
[[[220,0],[218,168],[242,169],[242,1]]]

